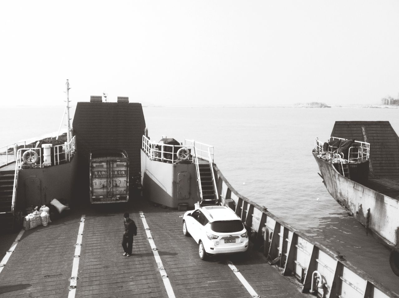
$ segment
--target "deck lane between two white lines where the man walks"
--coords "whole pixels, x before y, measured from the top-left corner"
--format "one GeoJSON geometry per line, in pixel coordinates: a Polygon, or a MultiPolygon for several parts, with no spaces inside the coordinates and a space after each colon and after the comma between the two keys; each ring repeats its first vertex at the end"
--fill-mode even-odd
{"type": "Polygon", "coordinates": [[[166,297],[138,210],[133,255],[122,256],[123,213],[86,214],[76,297],[166,297]]]}

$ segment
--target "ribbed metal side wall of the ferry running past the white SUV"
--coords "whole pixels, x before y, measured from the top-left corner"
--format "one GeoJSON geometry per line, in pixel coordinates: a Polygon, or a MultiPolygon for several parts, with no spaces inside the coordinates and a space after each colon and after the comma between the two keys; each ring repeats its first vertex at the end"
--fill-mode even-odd
{"type": "MultiPolygon", "coordinates": [[[[314,238],[294,229],[284,221],[240,195],[216,165],[213,165],[217,181],[217,193],[224,205],[228,205],[241,217],[254,248],[263,251],[270,263],[279,267],[285,276],[295,276],[302,284],[302,292],[308,293],[312,274],[320,272],[325,285],[317,287],[318,297],[398,297],[354,267],[343,256],[330,251],[314,238]]],[[[316,293],[315,293],[316,294],[316,293]]]]}

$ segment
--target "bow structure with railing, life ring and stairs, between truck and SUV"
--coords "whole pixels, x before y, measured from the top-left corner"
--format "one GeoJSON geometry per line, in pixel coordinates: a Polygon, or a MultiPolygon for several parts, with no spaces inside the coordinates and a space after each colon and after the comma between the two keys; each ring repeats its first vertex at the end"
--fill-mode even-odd
{"type": "Polygon", "coordinates": [[[152,142],[148,130],[142,137],[141,173],[144,196],[179,210],[217,205],[213,146],[173,138],[152,142]]]}

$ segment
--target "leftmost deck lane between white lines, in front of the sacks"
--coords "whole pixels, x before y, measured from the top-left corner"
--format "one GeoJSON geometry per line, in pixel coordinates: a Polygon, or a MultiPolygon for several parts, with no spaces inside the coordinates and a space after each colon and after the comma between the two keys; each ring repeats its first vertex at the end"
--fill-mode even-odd
{"type": "Polygon", "coordinates": [[[66,297],[79,215],[25,231],[0,274],[0,297],[66,297]]]}

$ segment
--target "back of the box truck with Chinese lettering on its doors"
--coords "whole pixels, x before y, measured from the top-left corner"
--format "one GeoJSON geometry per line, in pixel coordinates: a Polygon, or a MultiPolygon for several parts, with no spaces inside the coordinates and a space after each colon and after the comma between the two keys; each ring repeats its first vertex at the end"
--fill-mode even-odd
{"type": "Polygon", "coordinates": [[[117,196],[127,195],[127,162],[106,161],[92,163],[92,196],[100,201],[111,201],[117,196]]]}

